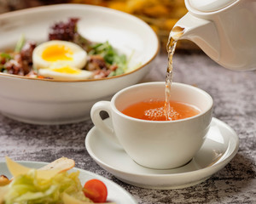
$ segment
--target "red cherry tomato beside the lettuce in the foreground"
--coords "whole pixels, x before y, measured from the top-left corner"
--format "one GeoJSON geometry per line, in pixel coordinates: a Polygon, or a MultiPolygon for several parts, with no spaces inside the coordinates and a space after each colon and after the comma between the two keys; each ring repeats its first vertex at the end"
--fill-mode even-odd
{"type": "Polygon", "coordinates": [[[106,202],[107,186],[98,179],[91,179],[84,184],[84,195],[94,202],[106,202]]]}

